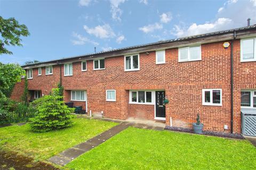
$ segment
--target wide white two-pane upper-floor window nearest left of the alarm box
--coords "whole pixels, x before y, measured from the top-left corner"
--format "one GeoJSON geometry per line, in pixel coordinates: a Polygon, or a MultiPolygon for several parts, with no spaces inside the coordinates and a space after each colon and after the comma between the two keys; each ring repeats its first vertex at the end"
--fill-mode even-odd
{"type": "Polygon", "coordinates": [[[201,60],[201,46],[179,48],[179,62],[201,60]]]}

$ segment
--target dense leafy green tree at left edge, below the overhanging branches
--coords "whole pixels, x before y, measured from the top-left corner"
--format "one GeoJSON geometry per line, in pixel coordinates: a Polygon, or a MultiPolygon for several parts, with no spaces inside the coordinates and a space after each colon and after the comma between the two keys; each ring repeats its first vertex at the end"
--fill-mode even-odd
{"type": "Polygon", "coordinates": [[[25,70],[19,64],[0,63],[0,97],[9,96],[15,83],[25,74],[25,70]]]}

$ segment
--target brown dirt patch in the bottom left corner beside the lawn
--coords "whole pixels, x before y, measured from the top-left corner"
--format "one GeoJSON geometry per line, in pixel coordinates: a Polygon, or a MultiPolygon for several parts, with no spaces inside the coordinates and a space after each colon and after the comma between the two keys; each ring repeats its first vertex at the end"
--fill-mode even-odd
{"type": "Polygon", "coordinates": [[[32,158],[17,154],[15,152],[5,152],[0,150],[0,169],[57,170],[59,168],[44,162],[34,162],[32,158]]]}

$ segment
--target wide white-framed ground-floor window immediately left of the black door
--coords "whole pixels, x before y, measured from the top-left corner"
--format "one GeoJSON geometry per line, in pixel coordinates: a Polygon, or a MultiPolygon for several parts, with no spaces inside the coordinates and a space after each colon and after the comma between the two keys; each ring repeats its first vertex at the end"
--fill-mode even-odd
{"type": "Polygon", "coordinates": [[[154,104],[154,91],[130,91],[131,104],[154,104]]]}

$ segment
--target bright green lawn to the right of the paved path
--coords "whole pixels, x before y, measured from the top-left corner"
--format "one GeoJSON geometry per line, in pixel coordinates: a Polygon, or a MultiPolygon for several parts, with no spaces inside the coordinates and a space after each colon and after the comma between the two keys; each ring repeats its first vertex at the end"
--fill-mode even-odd
{"type": "Polygon", "coordinates": [[[256,169],[256,149],[230,140],[128,128],[66,165],[69,169],[256,169]]]}

